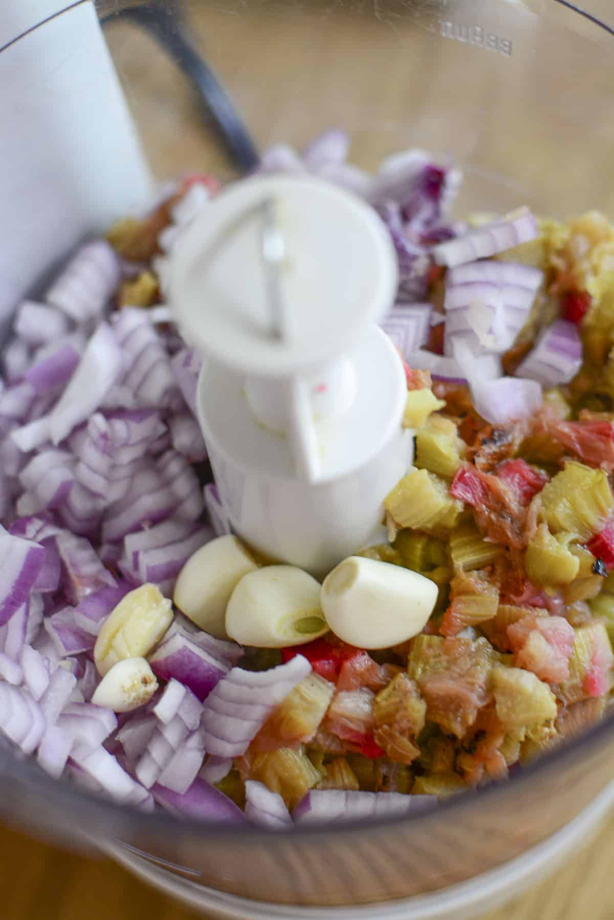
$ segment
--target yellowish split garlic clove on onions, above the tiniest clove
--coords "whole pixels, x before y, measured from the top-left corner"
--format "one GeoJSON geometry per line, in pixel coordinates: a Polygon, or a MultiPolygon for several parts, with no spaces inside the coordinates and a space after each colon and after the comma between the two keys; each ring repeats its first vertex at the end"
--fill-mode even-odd
{"type": "Polygon", "coordinates": [[[122,597],[96,639],[98,673],[104,676],[124,658],[145,658],[172,623],[172,606],[155,584],[143,584],[122,597]]]}

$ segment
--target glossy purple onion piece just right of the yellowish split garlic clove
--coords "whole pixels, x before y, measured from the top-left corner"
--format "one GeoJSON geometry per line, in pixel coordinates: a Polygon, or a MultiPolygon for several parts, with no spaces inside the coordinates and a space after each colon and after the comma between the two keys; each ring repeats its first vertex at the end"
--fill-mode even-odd
{"type": "Polygon", "coordinates": [[[214,658],[180,633],[159,645],[149,656],[149,663],[156,677],[165,681],[174,677],[201,701],[228,672],[225,661],[214,658]]]}

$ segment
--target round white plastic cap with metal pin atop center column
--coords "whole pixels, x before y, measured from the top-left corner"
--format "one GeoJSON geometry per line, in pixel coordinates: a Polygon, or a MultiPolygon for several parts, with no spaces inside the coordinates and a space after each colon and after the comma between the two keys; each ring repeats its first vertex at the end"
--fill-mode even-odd
{"type": "Polygon", "coordinates": [[[237,182],[181,237],[169,272],[188,341],[239,373],[278,378],[350,351],[396,288],[377,213],[315,178],[237,182]]]}

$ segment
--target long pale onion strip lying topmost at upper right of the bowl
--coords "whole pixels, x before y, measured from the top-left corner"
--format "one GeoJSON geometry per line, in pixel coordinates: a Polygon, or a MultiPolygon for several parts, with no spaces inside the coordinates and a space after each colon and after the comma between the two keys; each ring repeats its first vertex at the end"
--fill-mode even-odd
{"type": "Polygon", "coordinates": [[[538,234],[539,228],[533,214],[527,207],[518,208],[492,224],[484,224],[469,230],[464,236],[439,243],[433,248],[433,258],[437,265],[455,268],[474,259],[496,256],[505,249],[535,239],[538,234]]]}

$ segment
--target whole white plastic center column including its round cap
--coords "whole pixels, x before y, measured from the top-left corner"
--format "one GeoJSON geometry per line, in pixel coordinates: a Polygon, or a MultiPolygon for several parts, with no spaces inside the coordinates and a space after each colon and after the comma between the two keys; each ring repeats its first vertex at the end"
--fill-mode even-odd
{"type": "Polygon", "coordinates": [[[313,178],[238,182],[171,255],[171,305],[206,357],[199,416],[233,528],[317,575],[372,542],[411,462],[405,375],[377,328],[396,289],[377,213],[313,178]]]}

